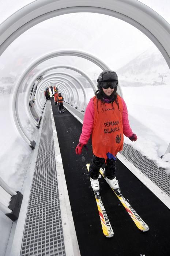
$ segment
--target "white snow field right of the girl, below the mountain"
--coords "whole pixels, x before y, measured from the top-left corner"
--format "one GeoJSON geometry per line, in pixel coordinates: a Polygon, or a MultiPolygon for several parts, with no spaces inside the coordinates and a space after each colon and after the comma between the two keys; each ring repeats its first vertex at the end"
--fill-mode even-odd
{"type": "Polygon", "coordinates": [[[122,87],[122,91],[129,124],[138,137],[136,142],[131,142],[124,136],[124,142],[170,173],[169,154],[160,158],[170,143],[170,87],[122,87]]]}

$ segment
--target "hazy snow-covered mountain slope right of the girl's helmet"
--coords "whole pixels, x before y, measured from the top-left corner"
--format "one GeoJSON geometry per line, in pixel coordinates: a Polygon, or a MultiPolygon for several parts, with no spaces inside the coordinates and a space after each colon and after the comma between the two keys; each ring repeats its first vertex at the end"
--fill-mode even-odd
{"type": "Polygon", "coordinates": [[[121,86],[170,84],[170,69],[157,48],[146,50],[117,73],[121,86]]]}

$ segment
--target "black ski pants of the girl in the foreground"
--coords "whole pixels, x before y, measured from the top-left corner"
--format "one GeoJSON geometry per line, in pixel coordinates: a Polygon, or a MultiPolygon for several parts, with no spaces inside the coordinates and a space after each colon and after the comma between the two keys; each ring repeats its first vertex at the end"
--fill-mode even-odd
{"type": "MultiPolygon", "coordinates": [[[[97,180],[99,177],[100,167],[105,163],[105,158],[97,157],[93,155],[90,162],[89,175],[90,178],[97,180]]],[[[108,179],[113,180],[116,174],[116,160],[106,159],[105,175],[108,179]]]]}

